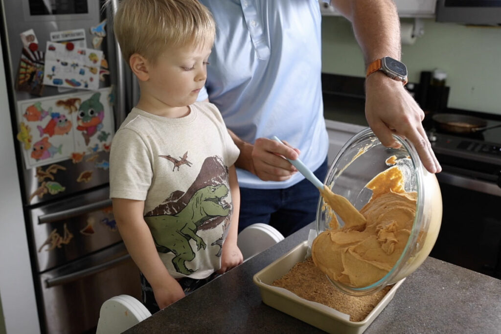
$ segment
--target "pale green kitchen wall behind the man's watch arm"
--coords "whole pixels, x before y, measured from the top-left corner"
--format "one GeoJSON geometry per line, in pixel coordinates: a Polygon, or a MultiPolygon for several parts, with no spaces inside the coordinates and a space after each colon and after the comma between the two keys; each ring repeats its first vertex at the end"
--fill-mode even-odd
{"type": "MultiPolygon", "coordinates": [[[[501,115],[501,28],[423,22],[424,35],[402,46],[409,81],[419,82],[421,71],[443,69],[449,108],[501,115]]],[[[362,53],[346,19],[323,17],[322,46],[323,72],[365,76],[362,53]]]]}

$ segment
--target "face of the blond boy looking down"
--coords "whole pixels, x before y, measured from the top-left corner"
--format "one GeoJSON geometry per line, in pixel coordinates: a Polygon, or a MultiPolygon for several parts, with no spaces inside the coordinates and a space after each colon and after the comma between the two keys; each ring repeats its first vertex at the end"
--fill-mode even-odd
{"type": "Polygon", "coordinates": [[[183,107],[194,103],[207,79],[210,51],[209,46],[167,48],[160,54],[156,64],[149,68],[149,79],[145,83],[147,94],[166,107],[183,107]]]}

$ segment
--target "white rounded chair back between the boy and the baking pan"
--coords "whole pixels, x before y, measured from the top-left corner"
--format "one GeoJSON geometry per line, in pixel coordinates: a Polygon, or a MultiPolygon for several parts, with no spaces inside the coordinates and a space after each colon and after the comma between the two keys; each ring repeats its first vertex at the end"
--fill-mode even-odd
{"type": "Polygon", "coordinates": [[[236,244],[245,261],[282,240],[284,236],[275,227],[256,223],[245,227],[238,233],[236,244]]]}

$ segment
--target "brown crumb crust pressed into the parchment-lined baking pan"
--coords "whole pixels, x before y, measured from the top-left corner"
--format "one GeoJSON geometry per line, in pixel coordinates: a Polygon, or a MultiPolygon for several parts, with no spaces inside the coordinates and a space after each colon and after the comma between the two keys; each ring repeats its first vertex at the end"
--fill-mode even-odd
{"type": "Polygon", "coordinates": [[[351,321],[365,319],[392,287],[386,286],[366,296],[351,296],[334,287],[325,274],[315,266],[311,257],[296,263],[287,274],[274,281],[273,285],[283,287],[303,299],[316,301],[349,314],[351,321]]]}

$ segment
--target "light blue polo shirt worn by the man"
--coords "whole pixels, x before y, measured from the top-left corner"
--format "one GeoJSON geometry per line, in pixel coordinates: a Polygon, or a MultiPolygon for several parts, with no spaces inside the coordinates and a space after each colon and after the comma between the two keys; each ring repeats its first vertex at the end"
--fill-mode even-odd
{"type": "MultiPolygon", "coordinates": [[[[277,136],[316,170],[326,159],[321,19],[317,0],[201,0],[214,16],[216,40],[206,92],[226,127],[246,142],[277,136]]],[[[279,189],[304,177],[262,181],[237,169],[241,187],[279,189]]]]}

